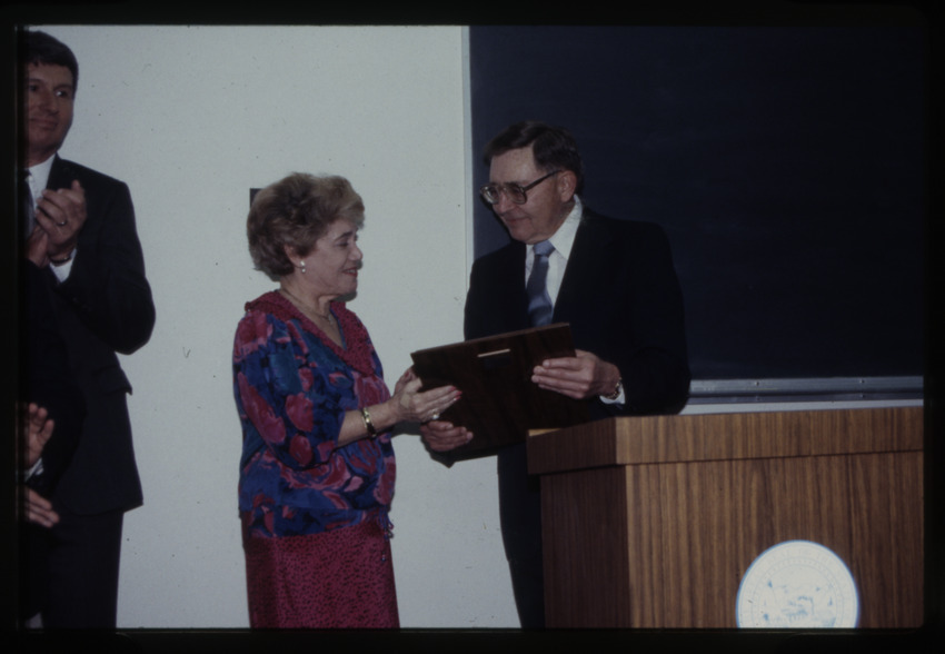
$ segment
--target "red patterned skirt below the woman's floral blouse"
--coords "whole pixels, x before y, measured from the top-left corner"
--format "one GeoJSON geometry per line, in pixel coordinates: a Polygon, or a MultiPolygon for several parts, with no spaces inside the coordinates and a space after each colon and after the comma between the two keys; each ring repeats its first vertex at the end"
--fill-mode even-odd
{"type": "Polygon", "coordinates": [[[307,536],[243,532],[253,628],[398,628],[390,541],[375,519],[307,536]]]}

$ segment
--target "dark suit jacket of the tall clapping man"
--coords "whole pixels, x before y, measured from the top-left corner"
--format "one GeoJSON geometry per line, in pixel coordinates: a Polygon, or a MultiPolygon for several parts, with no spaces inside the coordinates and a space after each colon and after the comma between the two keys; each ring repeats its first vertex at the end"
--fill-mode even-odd
{"type": "Polygon", "coordinates": [[[68,279],[60,284],[48,271],[47,280],[87,415],[54,501],[94,514],[142,502],[126,404],[131,385],[116,353],[148,341],[155,306],[128,187],[57,156],[47,187],[67,188],[74,179],[86,190],[88,217],[68,279]]]}

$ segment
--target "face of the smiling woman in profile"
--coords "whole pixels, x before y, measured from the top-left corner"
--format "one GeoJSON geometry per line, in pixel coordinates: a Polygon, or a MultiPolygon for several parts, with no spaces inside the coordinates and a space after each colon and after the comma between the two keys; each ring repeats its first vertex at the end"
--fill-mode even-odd
{"type": "Polygon", "coordinates": [[[358,289],[362,258],[357,226],[339,219],[329,225],[325,235],[315,241],[315,248],[301,257],[306,265],[302,278],[317,296],[348,295],[358,289]]]}

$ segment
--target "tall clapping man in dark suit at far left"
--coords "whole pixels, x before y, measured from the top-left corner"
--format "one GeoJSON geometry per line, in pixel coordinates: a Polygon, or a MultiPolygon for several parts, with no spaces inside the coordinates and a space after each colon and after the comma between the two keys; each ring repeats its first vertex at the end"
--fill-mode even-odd
{"type": "Polygon", "coordinates": [[[44,627],[113,628],[123,514],[142,502],[131,386],[116,353],[148,341],[155,307],[128,187],[57,155],[72,123],[76,58],[43,32],[22,37],[21,127],[34,209],[27,256],[47,285],[86,409],[52,490],[59,522],[46,531],[48,574],[34,589],[44,627]]]}

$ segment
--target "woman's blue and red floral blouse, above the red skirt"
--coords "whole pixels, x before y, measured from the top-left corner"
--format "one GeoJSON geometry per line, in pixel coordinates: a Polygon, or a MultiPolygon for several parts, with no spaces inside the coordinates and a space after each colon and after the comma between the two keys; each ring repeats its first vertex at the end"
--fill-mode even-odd
{"type": "Polygon", "coordinates": [[[344,347],[270,291],[246,305],[233,343],[242,425],[239,511],[249,537],[329,532],[377,519],[389,532],[390,432],[337,446],[345,413],[390,397],[367,329],[334,303],[344,347]]]}

